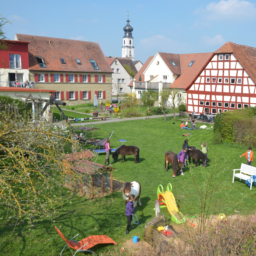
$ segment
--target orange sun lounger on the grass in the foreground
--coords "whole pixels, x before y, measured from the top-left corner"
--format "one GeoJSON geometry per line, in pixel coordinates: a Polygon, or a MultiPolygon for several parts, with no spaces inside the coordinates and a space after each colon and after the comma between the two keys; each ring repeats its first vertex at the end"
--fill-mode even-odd
{"type": "MultiPolygon", "coordinates": [[[[92,250],[90,250],[90,248],[92,248],[93,246],[95,246],[96,244],[99,244],[99,243],[114,243],[115,245],[117,245],[117,243],[115,243],[114,240],[112,240],[110,237],[105,236],[105,235],[87,236],[86,238],[84,238],[80,241],[74,241],[73,239],[79,235],[79,234],[77,234],[72,239],[66,240],[66,238],[57,229],[57,227],[55,227],[55,228],[58,231],[61,238],[63,240],[65,240],[65,242],[66,242],[66,245],[64,246],[62,252],[64,251],[64,249],[66,248],[67,245],[69,246],[69,249],[72,248],[72,249],[76,250],[75,254],[77,252],[91,252],[92,254],[95,254],[92,250]]],[[[71,249],[70,249],[70,251],[71,251],[71,249]]],[[[60,253],[60,256],[61,256],[62,252],[60,253]]],[[[74,256],[75,256],[75,254],[74,254],[74,256]]]]}

